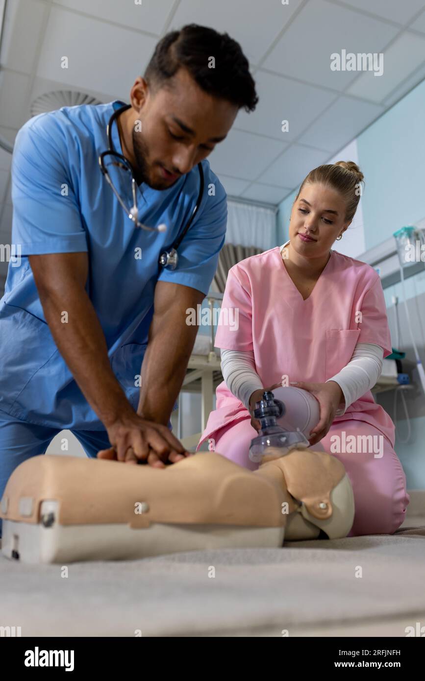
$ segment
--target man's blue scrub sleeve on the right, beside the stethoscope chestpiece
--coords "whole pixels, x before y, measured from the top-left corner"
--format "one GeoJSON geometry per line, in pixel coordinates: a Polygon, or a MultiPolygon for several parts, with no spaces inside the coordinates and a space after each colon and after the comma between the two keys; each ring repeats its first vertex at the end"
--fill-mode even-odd
{"type": "MultiPolygon", "coordinates": [[[[211,174],[213,175],[213,174],[211,174]]],[[[185,238],[178,247],[176,270],[162,268],[158,281],[182,284],[207,294],[217,270],[227,225],[227,195],[219,181],[216,194],[208,194],[208,181],[200,206],[185,238]]],[[[182,227],[184,229],[184,226],[182,227]]]]}

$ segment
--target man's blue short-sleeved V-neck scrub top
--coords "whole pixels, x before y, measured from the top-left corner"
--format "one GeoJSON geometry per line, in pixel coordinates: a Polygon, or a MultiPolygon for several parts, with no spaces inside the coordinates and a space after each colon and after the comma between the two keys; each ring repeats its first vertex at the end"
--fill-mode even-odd
{"type": "MultiPolygon", "coordinates": [[[[33,279],[28,255],[87,251],[89,294],[104,331],[112,370],[134,409],[157,281],[208,292],[225,240],[226,193],[206,159],[204,194],[178,247],[178,267],[165,270],[159,255],[191,217],[200,191],[195,166],[169,189],[142,183],[138,219],[166,232],[135,228],[99,169],[108,148],[106,126],[121,101],[63,107],[31,118],[16,136],[12,158],[12,244],[20,266],[9,263],[0,300],[0,410],[58,428],[104,430],[57,349],[33,279]],[[142,257],[136,257],[140,253],[142,257]],[[15,251],[16,252],[16,251],[15,251]]],[[[116,123],[115,150],[123,153],[116,123]]],[[[123,200],[132,205],[131,188],[123,200]]],[[[65,306],[66,307],[66,306],[65,306]]],[[[185,323],[185,320],[182,320],[185,323]]],[[[170,328],[170,334],[173,329],[170,328]]]]}

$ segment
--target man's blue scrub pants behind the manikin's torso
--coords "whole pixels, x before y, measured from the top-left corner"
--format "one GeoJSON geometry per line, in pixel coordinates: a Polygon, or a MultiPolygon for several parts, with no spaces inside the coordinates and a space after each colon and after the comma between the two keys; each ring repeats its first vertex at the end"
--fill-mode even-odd
{"type": "MultiPolygon", "coordinates": [[[[20,421],[0,411],[0,498],[16,466],[31,456],[45,454],[50,441],[62,430],[63,428],[48,428],[48,426],[20,421]]],[[[86,455],[92,458],[96,457],[99,449],[110,447],[106,430],[72,430],[71,432],[80,441],[86,455]]]]}

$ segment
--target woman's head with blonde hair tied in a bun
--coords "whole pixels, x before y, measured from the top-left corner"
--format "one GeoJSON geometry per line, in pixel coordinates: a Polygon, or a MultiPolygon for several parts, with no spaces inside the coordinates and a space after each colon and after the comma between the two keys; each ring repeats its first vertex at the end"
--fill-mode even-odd
{"type": "Polygon", "coordinates": [[[306,258],[323,258],[356,213],[363,174],[353,161],[319,165],[304,179],[292,206],[289,239],[306,258]],[[302,236],[311,237],[304,241],[302,236]]]}

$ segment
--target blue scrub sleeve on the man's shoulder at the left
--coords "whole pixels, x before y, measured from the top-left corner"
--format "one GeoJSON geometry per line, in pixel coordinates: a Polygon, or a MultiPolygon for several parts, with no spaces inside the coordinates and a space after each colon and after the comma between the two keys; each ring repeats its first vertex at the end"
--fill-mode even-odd
{"type": "Polygon", "coordinates": [[[16,136],[12,240],[22,255],[88,250],[66,158],[63,132],[48,114],[28,121],[16,136]]]}

